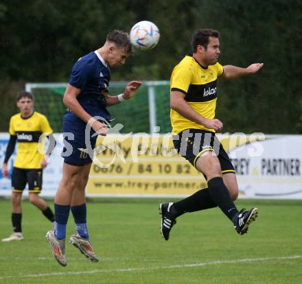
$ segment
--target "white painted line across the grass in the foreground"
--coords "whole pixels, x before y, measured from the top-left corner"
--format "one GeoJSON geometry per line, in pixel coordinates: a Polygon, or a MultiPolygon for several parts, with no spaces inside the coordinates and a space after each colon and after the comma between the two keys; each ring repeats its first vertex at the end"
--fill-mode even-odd
{"type": "Polygon", "coordinates": [[[88,271],[67,271],[67,272],[52,272],[44,274],[27,274],[27,275],[12,275],[12,276],[0,276],[1,279],[12,279],[12,278],[36,278],[45,276],[57,276],[57,275],[80,275],[80,274],[95,274],[95,273],[108,273],[108,272],[133,272],[142,270],[165,270],[175,268],[196,268],[205,265],[215,264],[229,264],[229,263],[244,263],[244,262],[255,262],[255,261],[269,261],[269,260],[284,260],[284,259],[301,259],[302,255],[291,255],[288,257],[259,257],[255,259],[235,259],[225,261],[209,261],[203,263],[189,263],[189,264],[178,264],[170,266],[154,266],[148,268],[120,268],[120,269],[104,269],[104,270],[88,270],[88,271]]]}

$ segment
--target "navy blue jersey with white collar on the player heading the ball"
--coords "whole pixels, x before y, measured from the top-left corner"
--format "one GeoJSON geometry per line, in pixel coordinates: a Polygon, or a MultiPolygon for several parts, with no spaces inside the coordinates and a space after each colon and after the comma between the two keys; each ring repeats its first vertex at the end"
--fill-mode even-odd
{"type": "Polygon", "coordinates": [[[110,79],[108,64],[97,51],[93,51],[75,62],[69,80],[71,86],[81,90],[77,99],[82,108],[92,117],[104,117],[107,121],[111,119],[106,108],[110,79]]]}

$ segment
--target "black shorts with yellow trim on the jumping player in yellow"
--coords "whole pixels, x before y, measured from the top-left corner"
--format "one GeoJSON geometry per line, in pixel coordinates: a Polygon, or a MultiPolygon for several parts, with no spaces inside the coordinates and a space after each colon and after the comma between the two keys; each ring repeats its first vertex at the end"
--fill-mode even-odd
{"type": "Polygon", "coordinates": [[[186,129],[173,136],[178,154],[196,167],[196,161],[205,152],[215,152],[220,162],[222,174],[235,173],[231,160],[214,132],[200,129],[186,129]]]}

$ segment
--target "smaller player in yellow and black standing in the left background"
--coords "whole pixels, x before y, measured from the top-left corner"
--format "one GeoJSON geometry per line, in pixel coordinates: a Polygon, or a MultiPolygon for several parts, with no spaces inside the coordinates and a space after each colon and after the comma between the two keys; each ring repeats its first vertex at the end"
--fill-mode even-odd
{"type": "Polygon", "coordinates": [[[21,91],[16,97],[16,105],[20,113],[10,119],[10,141],[5,153],[2,168],[3,177],[8,177],[8,160],[14,152],[16,142],[18,147],[12,171],[12,227],[14,233],[2,241],[19,241],[23,239],[21,218],[21,198],[26,184],[29,189],[29,200],[51,222],[54,222],[54,213],[47,202],[38,196],[42,190],[42,171],[47,166],[46,157],[38,151],[40,135],[49,137],[49,147],[46,154],[50,154],[55,140],[52,129],[44,115],[34,112],[33,97],[31,93],[21,91]]]}

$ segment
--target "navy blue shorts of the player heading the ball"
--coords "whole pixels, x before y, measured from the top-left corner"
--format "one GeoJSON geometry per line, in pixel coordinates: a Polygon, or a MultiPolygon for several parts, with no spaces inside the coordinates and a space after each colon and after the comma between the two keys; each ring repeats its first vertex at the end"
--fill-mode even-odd
{"type": "Polygon", "coordinates": [[[97,135],[87,124],[71,112],[66,113],[63,119],[64,148],[62,158],[69,165],[87,165],[93,160],[93,149],[97,141],[97,135]]]}

